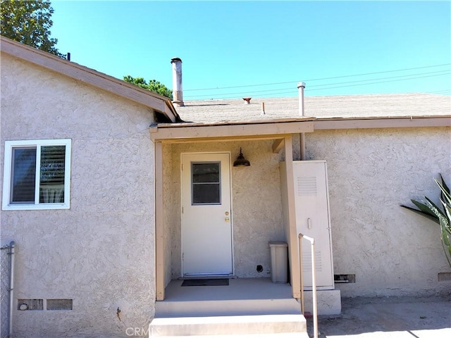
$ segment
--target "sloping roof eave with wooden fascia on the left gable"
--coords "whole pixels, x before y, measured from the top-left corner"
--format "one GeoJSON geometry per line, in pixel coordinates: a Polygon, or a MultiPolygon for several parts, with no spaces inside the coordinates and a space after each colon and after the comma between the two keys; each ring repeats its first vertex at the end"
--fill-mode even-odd
{"type": "Polygon", "coordinates": [[[39,65],[48,70],[66,75],[74,80],[84,82],[99,89],[106,90],[125,99],[142,104],[153,111],[163,114],[168,121],[180,122],[180,117],[170,99],[130,84],[123,80],[116,79],[104,73],[97,72],[78,63],[67,61],[63,58],[40,51],[33,47],[19,42],[1,37],[1,53],[6,53],[21,60],[39,65]]]}

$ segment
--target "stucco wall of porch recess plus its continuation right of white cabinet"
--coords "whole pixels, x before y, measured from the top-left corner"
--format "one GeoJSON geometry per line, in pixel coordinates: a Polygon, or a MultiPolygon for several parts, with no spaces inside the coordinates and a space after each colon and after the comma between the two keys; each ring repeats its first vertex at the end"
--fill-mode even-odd
{"type": "MultiPolygon", "coordinates": [[[[294,136],[293,157],[299,159],[294,136]]],[[[450,128],[316,131],[307,136],[307,159],[328,163],[335,274],[356,282],[335,284],[342,296],[448,294],[450,272],[438,225],[400,204],[426,195],[438,201],[433,177],[451,182],[450,128]]],[[[232,167],[235,275],[268,277],[268,240],[284,237],[278,162],[271,141],[173,144],[171,196],[172,276],[180,277],[180,153],[230,151],[243,146],[252,163],[232,167]],[[257,273],[256,265],[264,266],[257,273]]]]}

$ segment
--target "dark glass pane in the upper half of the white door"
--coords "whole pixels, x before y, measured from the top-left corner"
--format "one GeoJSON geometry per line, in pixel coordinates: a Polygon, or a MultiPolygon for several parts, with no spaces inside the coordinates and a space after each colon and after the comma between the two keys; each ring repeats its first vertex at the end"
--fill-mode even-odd
{"type": "Polygon", "coordinates": [[[220,169],[218,162],[191,163],[192,205],[221,204],[220,169]]]}

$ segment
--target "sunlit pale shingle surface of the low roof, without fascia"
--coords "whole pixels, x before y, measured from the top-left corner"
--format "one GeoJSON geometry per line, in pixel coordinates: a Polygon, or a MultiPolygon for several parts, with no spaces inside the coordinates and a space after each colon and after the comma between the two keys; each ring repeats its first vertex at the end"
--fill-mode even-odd
{"type": "MultiPolygon", "coordinates": [[[[301,118],[299,98],[254,98],[185,101],[177,108],[180,117],[194,123],[240,123],[243,121],[301,118]],[[262,103],[265,114],[262,115],[262,103]]],[[[306,96],[304,116],[332,118],[400,118],[451,115],[451,96],[435,94],[372,94],[347,96],[306,96]]]]}

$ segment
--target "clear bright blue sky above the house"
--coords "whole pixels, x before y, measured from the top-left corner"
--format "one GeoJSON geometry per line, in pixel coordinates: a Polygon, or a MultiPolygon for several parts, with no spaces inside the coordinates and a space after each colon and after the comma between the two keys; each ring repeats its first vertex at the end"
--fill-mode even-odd
{"type": "Polygon", "coordinates": [[[183,97],[451,94],[450,1],[51,1],[71,61],[183,97]],[[359,75],[359,76],[350,76],[359,75]]]}

